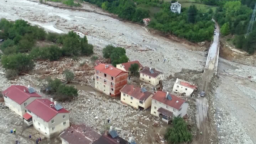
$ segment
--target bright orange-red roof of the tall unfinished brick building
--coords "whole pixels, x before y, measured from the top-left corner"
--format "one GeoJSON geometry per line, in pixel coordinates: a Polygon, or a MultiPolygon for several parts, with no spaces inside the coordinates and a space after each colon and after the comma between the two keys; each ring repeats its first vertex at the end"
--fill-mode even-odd
{"type": "Polygon", "coordinates": [[[127,72],[124,72],[114,66],[108,65],[108,68],[105,68],[107,64],[99,63],[97,66],[94,67],[95,70],[98,70],[100,72],[103,72],[104,74],[108,74],[113,77],[121,76],[122,74],[127,74],[127,72]]]}

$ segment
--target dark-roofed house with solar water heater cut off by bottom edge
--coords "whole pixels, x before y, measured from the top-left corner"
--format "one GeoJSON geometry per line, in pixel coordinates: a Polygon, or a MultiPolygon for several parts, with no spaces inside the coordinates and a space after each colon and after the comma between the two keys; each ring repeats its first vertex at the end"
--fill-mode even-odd
{"type": "Polygon", "coordinates": [[[136,144],[133,138],[129,138],[128,142],[123,138],[119,137],[117,131],[113,130],[113,127],[110,126],[109,131],[105,131],[104,134],[98,138],[93,144],[136,144]]]}

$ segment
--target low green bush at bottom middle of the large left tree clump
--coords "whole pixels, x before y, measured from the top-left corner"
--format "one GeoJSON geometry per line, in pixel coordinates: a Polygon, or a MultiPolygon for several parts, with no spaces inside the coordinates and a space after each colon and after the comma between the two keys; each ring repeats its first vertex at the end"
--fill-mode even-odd
{"type": "Polygon", "coordinates": [[[33,59],[48,59],[50,61],[56,61],[62,56],[62,52],[58,46],[50,45],[42,48],[33,48],[30,52],[30,56],[33,59]]]}

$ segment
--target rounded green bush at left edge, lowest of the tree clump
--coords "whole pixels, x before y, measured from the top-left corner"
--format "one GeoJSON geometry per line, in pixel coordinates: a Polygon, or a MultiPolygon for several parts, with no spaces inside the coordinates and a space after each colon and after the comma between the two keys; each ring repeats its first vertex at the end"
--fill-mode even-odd
{"type": "Polygon", "coordinates": [[[3,55],[1,62],[7,70],[17,70],[17,72],[28,72],[34,68],[34,63],[27,54],[3,55]]]}

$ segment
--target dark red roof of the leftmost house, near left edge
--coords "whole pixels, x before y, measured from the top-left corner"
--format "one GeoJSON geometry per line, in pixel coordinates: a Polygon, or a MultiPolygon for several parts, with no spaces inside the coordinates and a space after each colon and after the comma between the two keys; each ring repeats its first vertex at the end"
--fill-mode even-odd
{"type": "Polygon", "coordinates": [[[4,90],[2,94],[14,102],[17,102],[19,105],[28,100],[30,97],[42,98],[42,96],[35,92],[30,94],[27,88],[21,85],[11,85],[11,87],[8,87],[6,90],[4,90]],[[26,92],[24,92],[24,89],[26,92]]]}

